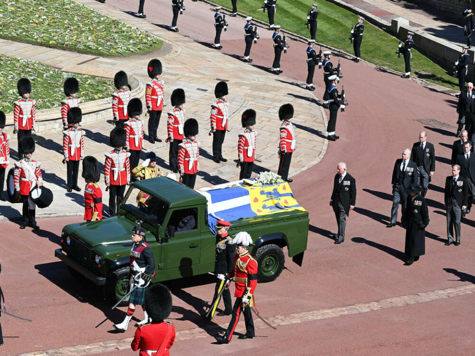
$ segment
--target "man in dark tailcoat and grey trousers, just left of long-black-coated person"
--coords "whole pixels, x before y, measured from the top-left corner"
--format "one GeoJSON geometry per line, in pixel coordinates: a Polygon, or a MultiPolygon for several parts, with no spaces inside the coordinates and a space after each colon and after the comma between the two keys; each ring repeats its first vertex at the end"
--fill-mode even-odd
{"type": "Polygon", "coordinates": [[[402,151],[402,158],[397,159],[392,171],[391,185],[392,185],[392,209],[391,222],[387,227],[396,226],[397,209],[401,203],[401,226],[406,225],[406,201],[407,189],[411,184],[416,184],[419,181],[419,170],[414,161],[411,161],[411,150],[409,148],[402,151]]]}

